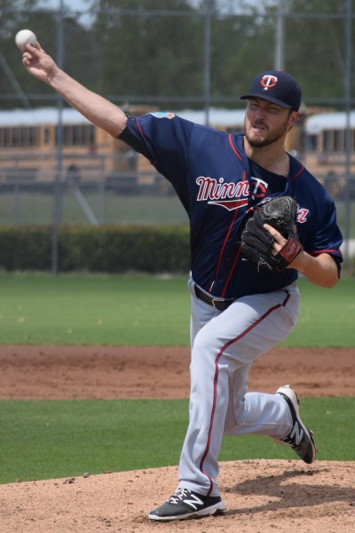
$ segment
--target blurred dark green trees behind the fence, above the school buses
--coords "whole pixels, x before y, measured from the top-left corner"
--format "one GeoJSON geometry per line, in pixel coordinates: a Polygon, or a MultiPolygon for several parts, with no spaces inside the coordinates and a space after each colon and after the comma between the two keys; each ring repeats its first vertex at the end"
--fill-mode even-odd
{"type": "MultiPolygon", "coordinates": [[[[43,100],[52,103],[56,96],[21,65],[13,39],[24,27],[33,28],[43,48],[63,59],[68,74],[120,104],[201,107],[210,82],[212,105],[235,107],[256,72],[274,67],[278,4],[269,0],[245,0],[237,6],[232,0],[166,0],[163,5],[156,0],[93,0],[90,25],[74,12],[64,15],[61,51],[56,12],[36,12],[36,0],[3,4],[0,49],[33,106],[43,105],[43,100]]],[[[346,4],[282,3],[285,68],[296,76],[304,99],[311,103],[336,105],[343,99],[346,4]]],[[[14,93],[9,76],[1,76],[2,107],[19,106],[14,93]]]]}

